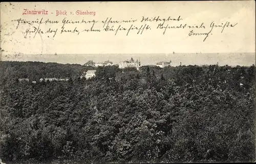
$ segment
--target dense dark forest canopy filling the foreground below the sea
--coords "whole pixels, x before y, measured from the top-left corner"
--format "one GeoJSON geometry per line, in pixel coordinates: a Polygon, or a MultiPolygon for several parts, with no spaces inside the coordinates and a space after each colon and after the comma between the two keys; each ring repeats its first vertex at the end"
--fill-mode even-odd
{"type": "Polygon", "coordinates": [[[254,79],[255,66],[143,66],[138,71],[0,62],[0,156],[254,161],[254,79]],[[92,69],[96,77],[80,78],[92,69]],[[46,77],[69,80],[38,82],[46,77]]]}

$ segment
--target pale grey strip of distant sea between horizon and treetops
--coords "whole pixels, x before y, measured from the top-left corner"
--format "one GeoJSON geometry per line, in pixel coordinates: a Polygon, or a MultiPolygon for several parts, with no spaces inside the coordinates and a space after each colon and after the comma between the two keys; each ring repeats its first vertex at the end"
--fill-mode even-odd
{"type": "Polygon", "coordinates": [[[241,53],[138,53],[138,54],[2,54],[2,61],[33,61],[53,62],[61,64],[84,64],[89,60],[94,62],[112,61],[118,64],[124,60],[139,60],[141,65],[155,65],[161,61],[172,61],[173,66],[182,65],[255,65],[255,52],[241,53]]]}

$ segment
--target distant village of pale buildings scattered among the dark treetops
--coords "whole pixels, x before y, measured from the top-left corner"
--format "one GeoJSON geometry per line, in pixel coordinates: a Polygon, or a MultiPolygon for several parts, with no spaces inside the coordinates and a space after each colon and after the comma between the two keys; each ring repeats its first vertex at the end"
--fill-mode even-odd
{"type": "MultiPolygon", "coordinates": [[[[113,64],[113,62],[111,61],[105,61],[102,63],[95,63],[93,61],[87,61],[84,66],[91,66],[91,67],[103,67],[103,66],[113,66],[116,65],[118,66],[120,69],[124,69],[124,68],[136,68],[137,70],[139,70],[141,63],[140,61],[138,61],[138,59],[135,61],[133,58],[131,58],[131,60],[125,60],[120,62],[119,64],[113,64]]],[[[156,63],[156,65],[148,65],[148,66],[158,66],[160,68],[164,68],[164,67],[168,67],[168,66],[172,66],[172,61],[162,61],[162,62],[158,62],[156,63]]],[[[92,78],[96,76],[96,70],[88,70],[88,71],[84,71],[81,75],[80,78],[92,78]]],[[[40,82],[41,81],[68,81],[69,78],[40,78],[40,82]]],[[[18,81],[27,81],[29,82],[28,78],[19,78],[18,81]]],[[[36,81],[32,81],[32,83],[36,83],[36,81]]]]}

